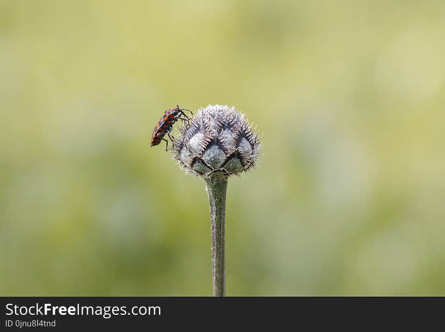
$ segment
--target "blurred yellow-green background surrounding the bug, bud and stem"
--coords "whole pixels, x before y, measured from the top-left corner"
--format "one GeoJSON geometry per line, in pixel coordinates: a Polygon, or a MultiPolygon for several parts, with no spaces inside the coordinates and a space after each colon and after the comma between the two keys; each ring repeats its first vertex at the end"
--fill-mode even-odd
{"type": "Polygon", "coordinates": [[[443,1],[0,0],[0,295],[209,296],[162,112],[235,105],[227,295],[445,295],[443,1]]]}

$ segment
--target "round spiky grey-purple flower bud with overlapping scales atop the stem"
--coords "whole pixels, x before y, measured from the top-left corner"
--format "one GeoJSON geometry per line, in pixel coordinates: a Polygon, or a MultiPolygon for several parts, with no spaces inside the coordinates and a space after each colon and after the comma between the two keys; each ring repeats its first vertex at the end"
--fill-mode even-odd
{"type": "Polygon", "coordinates": [[[204,177],[248,171],[258,157],[258,133],[234,107],[209,105],[180,127],[174,158],[181,168],[204,177]]]}

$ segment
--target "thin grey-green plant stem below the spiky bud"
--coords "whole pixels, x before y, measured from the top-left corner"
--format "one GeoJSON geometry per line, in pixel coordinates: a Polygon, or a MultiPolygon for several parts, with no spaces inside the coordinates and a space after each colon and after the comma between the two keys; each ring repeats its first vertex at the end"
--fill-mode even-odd
{"type": "Polygon", "coordinates": [[[213,296],[226,296],[225,227],[227,176],[207,177],[206,191],[210,204],[212,229],[213,296]]]}

